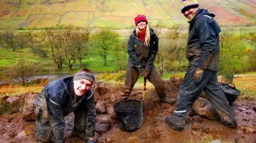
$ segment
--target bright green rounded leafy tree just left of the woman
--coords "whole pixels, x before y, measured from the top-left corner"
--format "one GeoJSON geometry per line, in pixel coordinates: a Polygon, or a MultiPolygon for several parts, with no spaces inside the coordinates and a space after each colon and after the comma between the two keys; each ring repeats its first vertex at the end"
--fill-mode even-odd
{"type": "Polygon", "coordinates": [[[96,34],[90,37],[90,46],[92,52],[99,54],[103,60],[103,66],[107,65],[107,57],[110,51],[115,49],[119,44],[119,34],[109,28],[101,28],[96,34]]]}

